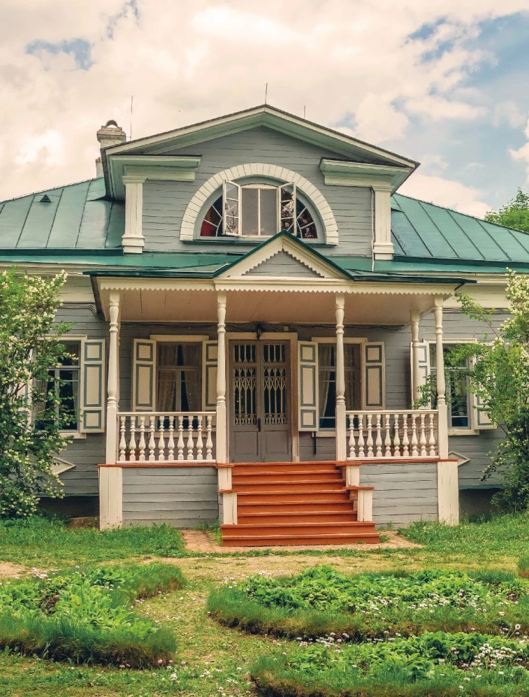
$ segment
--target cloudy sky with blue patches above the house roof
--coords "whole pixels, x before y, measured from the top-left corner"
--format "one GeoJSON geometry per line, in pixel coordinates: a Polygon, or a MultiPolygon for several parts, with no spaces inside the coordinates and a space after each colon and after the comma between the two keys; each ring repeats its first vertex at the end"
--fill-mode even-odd
{"type": "Polygon", "coordinates": [[[482,216],[529,190],[529,0],[2,0],[0,200],[139,138],[268,102],[421,162],[482,216]]]}

